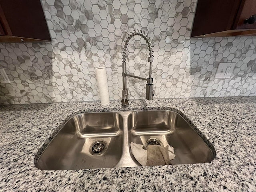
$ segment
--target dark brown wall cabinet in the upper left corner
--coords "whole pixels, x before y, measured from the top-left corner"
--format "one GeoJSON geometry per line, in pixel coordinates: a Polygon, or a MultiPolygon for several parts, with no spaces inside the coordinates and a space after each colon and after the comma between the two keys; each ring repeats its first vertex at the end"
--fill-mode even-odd
{"type": "Polygon", "coordinates": [[[50,40],[40,0],[0,0],[0,42],[50,40]]]}

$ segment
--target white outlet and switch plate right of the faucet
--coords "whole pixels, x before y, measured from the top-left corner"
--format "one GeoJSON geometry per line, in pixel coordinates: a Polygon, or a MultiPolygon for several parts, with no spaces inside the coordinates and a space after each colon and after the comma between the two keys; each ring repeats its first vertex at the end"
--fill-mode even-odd
{"type": "Polygon", "coordinates": [[[236,63],[220,63],[218,65],[215,78],[216,79],[229,79],[233,74],[236,63]]]}

